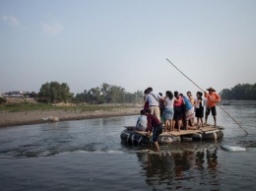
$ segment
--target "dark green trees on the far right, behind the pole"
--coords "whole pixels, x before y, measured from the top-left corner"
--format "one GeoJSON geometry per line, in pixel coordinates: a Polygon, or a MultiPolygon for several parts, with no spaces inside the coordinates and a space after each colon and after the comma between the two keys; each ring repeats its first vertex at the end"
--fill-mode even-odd
{"type": "Polygon", "coordinates": [[[224,89],[221,92],[222,99],[236,100],[256,100],[256,84],[238,84],[229,89],[224,89]]]}

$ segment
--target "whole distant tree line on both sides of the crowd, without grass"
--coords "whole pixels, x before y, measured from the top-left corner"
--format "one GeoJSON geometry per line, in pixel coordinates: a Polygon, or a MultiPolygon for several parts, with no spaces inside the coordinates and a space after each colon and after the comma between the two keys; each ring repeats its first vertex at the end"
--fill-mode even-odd
{"type": "MultiPolygon", "coordinates": [[[[256,84],[238,84],[221,93],[223,99],[231,100],[256,100],[256,84]]],[[[74,103],[142,103],[143,92],[128,93],[124,88],[103,83],[100,87],[85,90],[74,96],[66,83],[50,82],[41,86],[38,93],[38,100],[46,103],[74,102],[74,103]]],[[[5,103],[4,97],[0,98],[0,104],[5,103]]]]}

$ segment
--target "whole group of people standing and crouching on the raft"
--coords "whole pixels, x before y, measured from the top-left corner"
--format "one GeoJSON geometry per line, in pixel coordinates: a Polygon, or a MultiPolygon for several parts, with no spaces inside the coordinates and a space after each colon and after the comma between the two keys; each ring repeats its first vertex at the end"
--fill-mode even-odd
{"type": "Polygon", "coordinates": [[[144,109],[136,123],[136,130],[147,131],[150,136],[153,132],[152,143],[159,150],[158,137],[162,131],[196,130],[207,125],[210,112],[214,117],[214,127],[217,127],[216,103],[221,101],[221,97],[213,88],[207,92],[197,92],[194,98],[191,92],[186,96],[175,91],[166,91],[165,96],[156,94],[153,88],[148,88],[144,92],[144,109]],[[203,95],[207,100],[204,108],[203,95]],[[205,115],[205,122],[203,118],[205,115]],[[196,117],[196,122],[195,122],[196,117]],[[164,126],[162,127],[162,124],[164,126]]]}

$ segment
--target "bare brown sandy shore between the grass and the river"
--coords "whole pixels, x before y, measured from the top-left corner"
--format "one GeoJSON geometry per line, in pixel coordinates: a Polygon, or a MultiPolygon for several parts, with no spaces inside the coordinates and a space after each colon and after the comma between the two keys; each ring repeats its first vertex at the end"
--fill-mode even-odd
{"type": "Polygon", "coordinates": [[[92,118],[104,118],[113,116],[139,115],[141,107],[122,108],[111,111],[71,111],[71,110],[48,110],[27,112],[0,112],[0,127],[48,123],[49,118],[57,117],[59,121],[81,120],[92,118]]]}

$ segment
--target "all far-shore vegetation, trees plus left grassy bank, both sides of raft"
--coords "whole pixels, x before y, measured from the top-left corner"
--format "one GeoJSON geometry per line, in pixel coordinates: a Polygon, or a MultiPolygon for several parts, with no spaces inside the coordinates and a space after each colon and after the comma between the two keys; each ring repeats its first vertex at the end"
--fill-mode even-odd
{"type": "MultiPolygon", "coordinates": [[[[230,90],[224,89],[220,95],[223,100],[256,100],[256,84],[238,84],[230,90]]],[[[143,91],[128,93],[122,87],[106,83],[76,96],[70,93],[66,83],[51,82],[43,84],[39,93],[33,94],[33,97],[0,97],[0,111],[9,112],[52,109],[118,110],[138,104],[143,104],[143,91]]]]}

